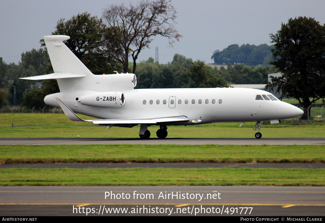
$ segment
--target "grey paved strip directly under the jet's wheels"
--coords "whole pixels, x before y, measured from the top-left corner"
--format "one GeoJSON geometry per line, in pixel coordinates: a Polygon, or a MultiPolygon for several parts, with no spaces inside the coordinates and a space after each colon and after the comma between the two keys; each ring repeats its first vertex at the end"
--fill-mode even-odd
{"type": "Polygon", "coordinates": [[[174,144],[174,145],[325,145],[325,138],[0,138],[0,145],[90,145],[90,144],[174,144]]]}

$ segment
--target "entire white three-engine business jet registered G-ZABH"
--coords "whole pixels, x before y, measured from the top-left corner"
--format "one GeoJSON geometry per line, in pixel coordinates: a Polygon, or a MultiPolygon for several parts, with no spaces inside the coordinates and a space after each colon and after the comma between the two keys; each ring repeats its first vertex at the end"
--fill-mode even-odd
{"type": "Polygon", "coordinates": [[[157,136],[167,136],[168,125],[217,122],[256,122],[261,138],[265,121],[294,118],[304,112],[278,100],[267,91],[249,88],[134,89],[135,74],[94,75],[63,41],[69,36],[44,36],[54,74],[25,77],[27,80],[57,79],[59,93],[47,95],[45,103],[61,108],[72,121],[119,127],[140,124],[139,136],[148,139],[151,125],[157,136]],[[100,118],[83,120],[76,113],[100,118]]]}

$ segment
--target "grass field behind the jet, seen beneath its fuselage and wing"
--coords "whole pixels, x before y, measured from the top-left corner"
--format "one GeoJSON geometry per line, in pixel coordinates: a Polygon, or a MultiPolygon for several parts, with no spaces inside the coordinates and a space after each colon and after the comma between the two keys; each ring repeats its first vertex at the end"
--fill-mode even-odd
{"type": "MultiPolygon", "coordinates": [[[[82,118],[86,118],[82,116],[82,118]]],[[[168,138],[254,138],[255,123],[213,123],[195,126],[168,126],[168,138]]],[[[294,121],[269,124],[261,129],[263,138],[317,138],[324,137],[325,123],[302,123],[294,121]]],[[[0,114],[0,137],[80,137],[88,138],[138,138],[139,126],[133,128],[103,126],[86,122],[72,122],[64,114],[0,114]],[[14,123],[14,128],[12,128],[14,123]]],[[[158,126],[149,127],[152,138],[157,138],[158,126]]]]}

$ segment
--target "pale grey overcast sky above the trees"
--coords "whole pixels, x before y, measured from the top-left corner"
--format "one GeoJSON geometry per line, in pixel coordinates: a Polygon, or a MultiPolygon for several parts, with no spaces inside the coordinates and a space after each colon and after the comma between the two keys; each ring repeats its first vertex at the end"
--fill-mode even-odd
{"type": "MultiPolygon", "coordinates": [[[[126,4],[129,1],[124,1],[126,4]]],[[[132,4],[139,2],[131,1],[132,4]]],[[[51,35],[60,18],[87,11],[101,18],[102,10],[117,0],[0,0],[0,57],[7,63],[18,63],[22,52],[39,49],[43,36],[51,35]]],[[[175,53],[195,60],[213,63],[214,50],[223,50],[230,44],[266,43],[270,33],[276,33],[281,22],[298,16],[313,17],[325,23],[323,0],[258,0],[258,1],[194,1],[172,0],[176,8],[175,29],[183,38],[168,46],[168,39],[158,37],[139,54],[138,61],[155,58],[159,48],[159,62],[173,60],[175,53]]]]}

